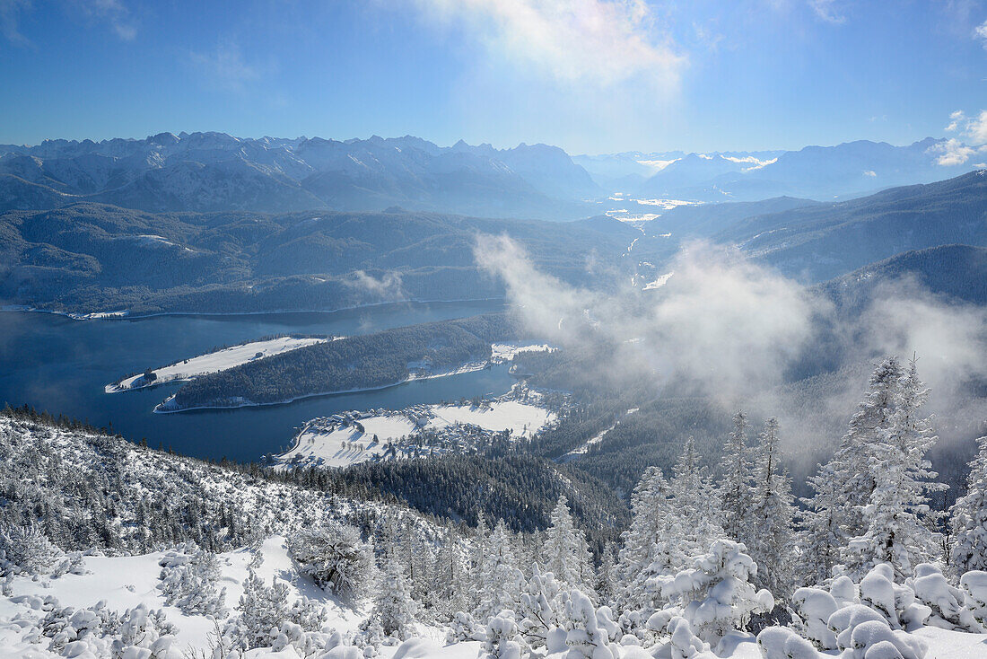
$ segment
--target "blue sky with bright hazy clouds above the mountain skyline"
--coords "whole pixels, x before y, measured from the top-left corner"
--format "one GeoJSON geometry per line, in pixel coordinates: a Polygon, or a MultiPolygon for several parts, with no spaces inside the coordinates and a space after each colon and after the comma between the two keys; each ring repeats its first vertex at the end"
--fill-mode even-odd
{"type": "Polygon", "coordinates": [[[949,136],[957,111],[970,141],[984,109],[974,0],[0,0],[0,142],[753,150],[949,136]]]}

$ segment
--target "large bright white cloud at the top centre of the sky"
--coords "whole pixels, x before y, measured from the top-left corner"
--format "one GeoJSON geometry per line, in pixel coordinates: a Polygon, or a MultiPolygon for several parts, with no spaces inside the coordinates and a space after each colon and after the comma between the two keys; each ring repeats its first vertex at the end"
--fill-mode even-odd
{"type": "Polygon", "coordinates": [[[658,34],[645,0],[416,0],[426,17],[459,25],[495,56],[566,83],[646,78],[674,85],[684,65],[658,34]]]}

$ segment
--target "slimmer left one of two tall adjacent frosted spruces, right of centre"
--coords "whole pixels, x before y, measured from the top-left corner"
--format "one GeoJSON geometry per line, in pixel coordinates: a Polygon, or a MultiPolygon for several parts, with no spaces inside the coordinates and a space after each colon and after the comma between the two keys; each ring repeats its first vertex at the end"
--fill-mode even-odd
{"type": "Polygon", "coordinates": [[[753,503],[752,470],[747,447],[747,416],[733,415],[733,431],[723,444],[720,500],[723,533],[737,542],[750,539],[753,503]]]}

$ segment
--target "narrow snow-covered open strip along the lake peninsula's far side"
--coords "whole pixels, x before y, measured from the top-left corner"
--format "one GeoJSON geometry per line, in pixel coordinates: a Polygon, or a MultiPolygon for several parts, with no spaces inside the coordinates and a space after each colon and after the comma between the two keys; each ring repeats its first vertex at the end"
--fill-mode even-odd
{"type": "Polygon", "coordinates": [[[147,381],[143,373],[124,377],[118,382],[107,384],[106,392],[118,393],[120,391],[139,389],[164,382],[187,380],[210,372],[232,369],[247,362],[286,353],[289,350],[311,346],[315,343],[324,343],[328,340],[320,337],[293,338],[284,336],[276,339],[267,339],[266,341],[252,341],[239,346],[217,350],[213,353],[199,355],[198,357],[193,357],[189,360],[172,364],[171,366],[155,369],[153,372],[157,377],[151,381],[147,381]]]}

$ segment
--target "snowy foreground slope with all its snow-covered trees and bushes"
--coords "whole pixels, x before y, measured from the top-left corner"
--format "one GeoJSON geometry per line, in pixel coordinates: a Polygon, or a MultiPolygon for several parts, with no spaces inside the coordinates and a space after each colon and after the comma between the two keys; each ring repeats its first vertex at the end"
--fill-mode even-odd
{"type": "Polygon", "coordinates": [[[470,529],[346,471],[208,464],[5,411],[0,656],[985,657],[987,438],[937,545],[914,362],[885,360],[870,386],[798,535],[778,423],[752,448],[738,413],[720,481],[690,438],[670,478],[645,469],[598,561],[565,495],[543,531],[470,529]]]}

